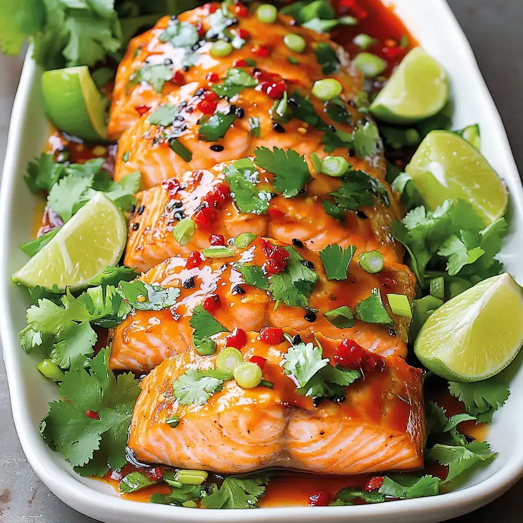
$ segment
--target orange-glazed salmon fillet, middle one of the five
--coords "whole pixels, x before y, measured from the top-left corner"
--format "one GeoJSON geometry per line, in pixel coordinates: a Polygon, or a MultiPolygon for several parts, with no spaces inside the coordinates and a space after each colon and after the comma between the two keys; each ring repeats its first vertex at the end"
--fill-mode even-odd
{"type": "MultiPolygon", "coordinates": [[[[231,200],[226,173],[234,167],[234,162],[188,171],[140,192],[136,212],[130,216],[124,264],[146,271],[170,256],[209,247],[211,233],[228,239],[245,232],[289,244],[298,238],[314,251],[321,251],[332,243],[342,247],[356,245],[358,254],[376,250],[386,261],[401,261],[402,248],[390,233],[390,224],[400,219],[400,211],[389,185],[382,182],[389,205],[376,198],[374,207],[361,207],[358,213],[347,211],[344,221],[340,221],[327,214],[322,203],[331,198],[329,192],[341,186],[339,178],[315,173],[311,163],[308,164],[312,181],[304,194],[283,198],[273,193],[268,212],[264,214],[242,213],[231,200]],[[220,201],[215,201],[217,196],[221,197],[220,201]],[[198,213],[213,201],[213,220],[206,226],[198,221],[198,213]],[[197,229],[188,243],[180,245],[173,229],[185,217],[196,221],[197,229]]],[[[253,167],[258,170],[261,184],[271,184],[273,174],[255,164],[253,167]]]]}

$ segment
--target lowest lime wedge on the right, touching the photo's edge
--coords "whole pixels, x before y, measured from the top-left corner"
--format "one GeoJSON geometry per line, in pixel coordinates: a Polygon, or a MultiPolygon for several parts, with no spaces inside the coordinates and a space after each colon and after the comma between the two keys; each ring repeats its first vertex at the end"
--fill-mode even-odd
{"type": "Polygon", "coordinates": [[[502,371],[523,344],[523,292],[504,272],[477,283],[429,316],[414,351],[441,378],[479,381],[502,371]]]}

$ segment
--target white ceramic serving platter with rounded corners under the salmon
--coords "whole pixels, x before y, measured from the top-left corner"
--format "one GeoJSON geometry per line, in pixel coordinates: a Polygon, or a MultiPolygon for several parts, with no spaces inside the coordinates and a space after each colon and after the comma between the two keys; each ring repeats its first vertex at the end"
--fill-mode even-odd
{"type": "MultiPolygon", "coordinates": [[[[420,45],[448,71],[455,105],[454,128],[479,123],[482,152],[506,181],[510,191],[509,234],[499,258],[506,270],[523,284],[523,188],[510,151],[503,123],[477,67],[470,45],[445,0],[383,0],[392,5],[420,45]]],[[[117,496],[103,482],[76,475],[40,436],[39,422],[48,402],[57,399],[56,386],[36,369],[36,356],[26,355],[18,341],[25,326],[27,293],[10,281],[10,275],[26,261],[17,246],[31,237],[38,207],[24,182],[27,163],[39,155],[49,134],[44,116],[41,71],[29,49],[10,122],[0,191],[0,329],[9,391],[18,436],[31,467],[50,490],[76,510],[110,523],[199,522],[356,522],[429,523],[464,514],[501,495],[523,475],[523,351],[504,371],[511,395],[494,416],[488,441],[499,453],[483,469],[475,470],[458,490],[435,497],[348,507],[282,507],[257,510],[196,510],[137,503],[117,496]]]]}

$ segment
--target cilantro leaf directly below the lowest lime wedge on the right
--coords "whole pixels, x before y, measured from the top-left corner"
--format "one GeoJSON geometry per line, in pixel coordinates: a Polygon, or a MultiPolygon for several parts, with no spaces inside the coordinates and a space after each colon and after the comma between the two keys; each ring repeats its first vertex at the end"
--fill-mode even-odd
{"type": "Polygon", "coordinates": [[[465,412],[477,418],[478,423],[492,421],[492,415],[508,400],[506,385],[494,379],[473,383],[449,381],[449,391],[465,405],[465,412]]]}

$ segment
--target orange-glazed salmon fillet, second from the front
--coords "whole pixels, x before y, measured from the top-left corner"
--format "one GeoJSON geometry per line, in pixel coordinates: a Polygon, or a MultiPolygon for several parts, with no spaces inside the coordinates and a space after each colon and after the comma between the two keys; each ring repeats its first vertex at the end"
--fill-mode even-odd
{"type": "Polygon", "coordinates": [[[399,333],[396,335],[390,333],[386,325],[358,320],[354,327],[340,329],[323,316],[325,312],[342,305],[354,309],[359,301],[370,296],[373,288],[380,289],[384,303],[387,293],[406,294],[408,298],[413,298],[415,279],[406,266],[388,263],[378,275],[371,275],[363,271],[353,258],[346,280],[329,281],[317,253],[305,247],[298,251],[306,260],[312,261],[319,275],[319,282],[309,298],[310,307],[319,311],[314,322],[305,320],[305,311],[299,306],[280,302],[275,310],[269,292],[246,285],[241,273],[231,266],[235,261],[257,266],[267,261],[261,240],[257,238],[246,249],[235,248],[234,257],[207,258],[199,267],[186,269],[187,255],[180,255],[165,260],[142,275],[140,279],[146,283],[179,288],[180,298],[172,308],[160,312],[134,311],[123,323],[112,329],[110,367],[145,372],[166,357],[185,352],[191,346],[192,328],[189,320],[192,310],[214,294],[219,296],[221,305],[213,311],[213,316],[229,331],[234,327],[245,331],[259,331],[267,325],[290,327],[300,332],[321,332],[338,343],[352,338],[363,348],[381,355],[406,355],[404,340],[408,320],[392,315],[390,310],[398,325],[399,333]],[[190,278],[194,278],[195,286],[186,289],[183,282],[190,278]],[[245,291],[244,294],[235,289],[237,285],[245,291]]]}

